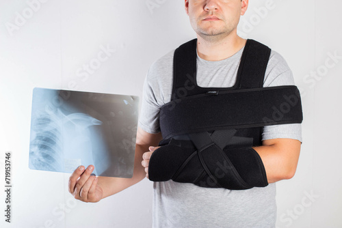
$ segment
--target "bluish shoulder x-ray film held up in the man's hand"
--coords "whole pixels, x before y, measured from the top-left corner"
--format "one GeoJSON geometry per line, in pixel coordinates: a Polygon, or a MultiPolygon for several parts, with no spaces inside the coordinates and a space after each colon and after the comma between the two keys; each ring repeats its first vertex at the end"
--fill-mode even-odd
{"type": "Polygon", "coordinates": [[[29,168],[132,177],[138,106],[137,96],[35,88],[29,168]]]}

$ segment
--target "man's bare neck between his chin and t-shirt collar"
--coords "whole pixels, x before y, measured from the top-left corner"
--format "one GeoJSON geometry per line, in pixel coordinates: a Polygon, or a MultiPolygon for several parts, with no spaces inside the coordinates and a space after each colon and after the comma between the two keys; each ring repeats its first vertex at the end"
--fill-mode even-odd
{"type": "Polygon", "coordinates": [[[231,57],[246,44],[238,35],[227,36],[220,40],[207,40],[197,35],[197,53],[201,59],[219,61],[231,57]]]}

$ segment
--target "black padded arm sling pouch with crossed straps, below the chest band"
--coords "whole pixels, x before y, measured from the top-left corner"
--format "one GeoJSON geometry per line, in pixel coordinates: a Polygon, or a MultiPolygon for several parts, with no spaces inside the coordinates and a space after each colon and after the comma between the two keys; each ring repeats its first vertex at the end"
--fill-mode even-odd
{"type": "Polygon", "coordinates": [[[198,140],[171,139],[153,152],[148,167],[150,180],[232,190],[267,186],[263,162],[251,147],[222,149],[214,141],[223,138],[215,139],[215,135],[207,132],[190,137],[198,140]]]}

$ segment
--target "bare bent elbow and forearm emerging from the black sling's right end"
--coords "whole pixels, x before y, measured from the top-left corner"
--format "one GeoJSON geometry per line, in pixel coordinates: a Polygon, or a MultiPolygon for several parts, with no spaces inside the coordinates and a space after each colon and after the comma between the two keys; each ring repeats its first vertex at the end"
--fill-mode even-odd
{"type": "Polygon", "coordinates": [[[291,179],[297,169],[300,141],[295,139],[270,139],[253,147],[263,160],[268,183],[291,179]]]}

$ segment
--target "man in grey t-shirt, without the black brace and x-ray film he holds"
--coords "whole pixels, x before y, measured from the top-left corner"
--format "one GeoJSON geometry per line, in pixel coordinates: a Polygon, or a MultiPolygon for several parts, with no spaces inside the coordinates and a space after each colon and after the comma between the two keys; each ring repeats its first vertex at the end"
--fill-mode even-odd
{"type": "MultiPolygon", "coordinates": [[[[185,0],[185,10],[197,33],[198,86],[235,84],[246,44],[237,35],[237,24],[247,8],[248,0],[185,0]]],[[[96,202],[148,177],[150,156],[162,139],[159,111],[171,100],[173,56],[174,51],[157,60],[144,83],[133,177],[97,178],[90,175],[92,165],[85,171],[81,166],[69,180],[69,191],[76,199],[96,202]]],[[[263,87],[278,85],[293,85],[293,76],[285,60],[272,51],[263,87]]],[[[265,126],[262,138],[262,145],[253,148],[265,167],[268,186],[228,190],[172,180],[155,182],[153,227],[274,227],[276,186],[273,183],[290,179],[295,173],[302,141],[300,124],[265,126]]]]}

